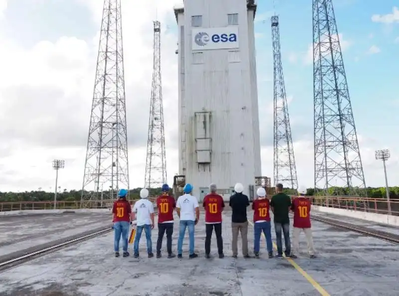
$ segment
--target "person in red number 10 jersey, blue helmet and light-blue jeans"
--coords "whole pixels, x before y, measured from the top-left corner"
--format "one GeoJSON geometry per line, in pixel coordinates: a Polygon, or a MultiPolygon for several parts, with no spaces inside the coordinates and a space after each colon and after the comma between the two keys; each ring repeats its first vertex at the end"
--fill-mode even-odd
{"type": "Polygon", "coordinates": [[[133,220],[132,207],[126,200],[128,190],[119,190],[118,197],[112,206],[112,222],[114,224],[114,251],[115,257],[119,257],[119,241],[122,235],[123,257],[128,257],[128,232],[130,220],[133,220]]]}

